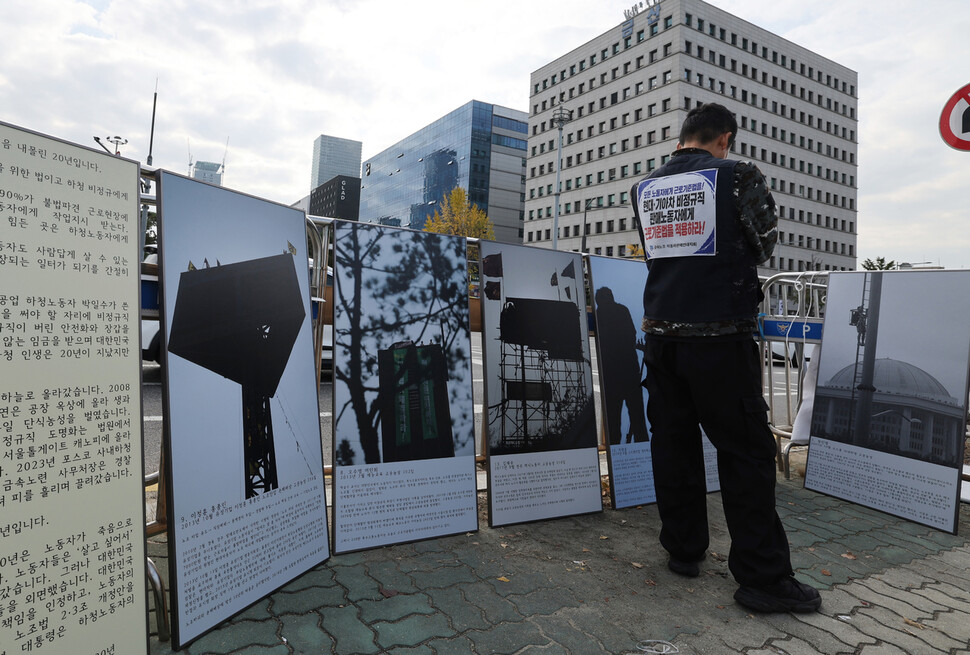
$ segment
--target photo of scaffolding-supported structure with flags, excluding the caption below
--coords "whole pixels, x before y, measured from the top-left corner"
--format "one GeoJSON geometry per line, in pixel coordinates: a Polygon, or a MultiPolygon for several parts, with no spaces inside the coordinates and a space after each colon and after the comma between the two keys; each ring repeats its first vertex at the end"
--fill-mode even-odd
{"type": "Polygon", "coordinates": [[[488,454],[595,448],[580,256],[493,242],[480,249],[488,454]]]}

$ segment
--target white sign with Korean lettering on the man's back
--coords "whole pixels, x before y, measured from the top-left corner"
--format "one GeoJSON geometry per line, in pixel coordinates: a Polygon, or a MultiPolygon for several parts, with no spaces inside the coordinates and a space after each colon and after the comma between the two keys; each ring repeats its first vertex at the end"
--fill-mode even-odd
{"type": "Polygon", "coordinates": [[[717,169],[644,180],[637,186],[647,259],[717,253],[717,169]]]}

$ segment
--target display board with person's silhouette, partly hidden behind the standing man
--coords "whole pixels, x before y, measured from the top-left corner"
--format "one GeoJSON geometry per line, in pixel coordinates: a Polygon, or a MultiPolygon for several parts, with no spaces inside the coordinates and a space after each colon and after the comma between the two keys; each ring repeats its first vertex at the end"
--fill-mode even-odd
{"type": "MultiPolygon", "coordinates": [[[[610,500],[614,509],[654,503],[649,394],[641,384],[647,374],[640,330],[647,267],[642,261],[591,256],[589,273],[610,500]]],[[[702,439],[707,490],[717,491],[717,451],[703,430],[702,439]]]]}

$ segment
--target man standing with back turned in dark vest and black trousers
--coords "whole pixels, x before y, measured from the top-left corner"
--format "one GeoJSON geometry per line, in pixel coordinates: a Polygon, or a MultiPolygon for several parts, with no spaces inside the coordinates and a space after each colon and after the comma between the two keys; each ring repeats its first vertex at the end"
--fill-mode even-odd
{"type": "Polygon", "coordinates": [[[717,448],[735,600],[760,612],[812,612],[821,598],[794,578],[775,511],[776,446],[753,339],[757,265],[774,249],[778,219],[761,171],[727,159],[737,132],[726,107],[695,107],[670,160],[633,187],[650,270],[644,385],[660,543],[670,570],[700,574],[709,543],[700,424],[717,448]]]}

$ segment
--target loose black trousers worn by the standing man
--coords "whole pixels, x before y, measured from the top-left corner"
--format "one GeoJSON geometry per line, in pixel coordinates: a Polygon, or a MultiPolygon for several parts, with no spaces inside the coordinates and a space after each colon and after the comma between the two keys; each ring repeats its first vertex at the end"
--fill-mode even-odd
{"type": "Polygon", "coordinates": [[[776,445],[755,342],[648,336],[644,358],[661,545],[693,561],[709,544],[700,424],[717,448],[735,580],[761,586],[791,575],[788,537],[775,510],[776,445]]]}

